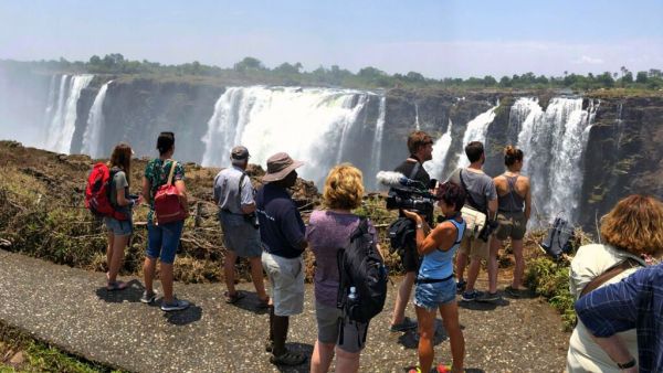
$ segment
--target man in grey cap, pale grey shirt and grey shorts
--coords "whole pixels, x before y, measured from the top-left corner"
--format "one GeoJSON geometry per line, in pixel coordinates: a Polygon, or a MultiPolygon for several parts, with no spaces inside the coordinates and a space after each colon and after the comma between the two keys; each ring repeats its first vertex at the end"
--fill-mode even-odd
{"type": "Polygon", "coordinates": [[[249,258],[251,277],[260,298],[259,306],[266,308],[270,297],[265,292],[263,278],[260,232],[251,220],[255,216],[253,185],[244,172],[249,164],[249,149],[242,146],[232,148],[230,161],[232,166],[221,170],[214,178],[214,202],[219,205],[219,221],[227,249],[223,275],[228,291],[224,297],[228,303],[234,303],[244,297],[234,287],[234,265],[238,256],[249,258]]]}

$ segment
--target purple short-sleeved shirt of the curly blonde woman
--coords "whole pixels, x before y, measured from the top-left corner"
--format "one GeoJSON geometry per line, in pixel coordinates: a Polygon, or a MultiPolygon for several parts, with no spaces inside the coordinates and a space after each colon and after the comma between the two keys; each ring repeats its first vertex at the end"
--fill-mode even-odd
{"type": "MultiPolygon", "coordinates": [[[[355,214],[343,214],[328,210],[316,210],[311,214],[306,227],[306,241],[315,255],[315,299],[329,307],[336,307],[338,292],[338,249],[347,245],[352,231],[361,219],[355,214]]],[[[376,237],[376,228],[368,222],[370,234],[376,237]]]]}

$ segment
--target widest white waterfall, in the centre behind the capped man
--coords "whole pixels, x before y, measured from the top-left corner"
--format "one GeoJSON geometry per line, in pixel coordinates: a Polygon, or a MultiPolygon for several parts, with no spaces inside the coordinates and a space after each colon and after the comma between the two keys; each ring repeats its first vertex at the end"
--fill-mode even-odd
{"type": "MultiPolygon", "coordinates": [[[[349,160],[350,132],[362,125],[370,97],[350,89],[230,87],[217,100],[202,137],[203,166],[225,166],[235,145],[249,148],[251,162],[265,166],[286,151],[306,162],[297,172],[317,185],[336,161],[349,160]]],[[[383,121],[383,114],[381,114],[383,121]]],[[[379,125],[381,130],[381,125],[379,125]]],[[[377,137],[377,136],[376,136],[377,137]]]]}

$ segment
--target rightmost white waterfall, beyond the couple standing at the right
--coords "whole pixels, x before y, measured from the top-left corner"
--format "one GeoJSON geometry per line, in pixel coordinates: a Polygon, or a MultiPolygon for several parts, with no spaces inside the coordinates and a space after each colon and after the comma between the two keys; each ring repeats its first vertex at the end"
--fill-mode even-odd
{"type": "Polygon", "coordinates": [[[533,220],[564,216],[575,222],[582,186],[581,160],[588,128],[593,119],[591,105],[582,109],[581,98],[552,98],[544,111],[537,100],[519,98],[513,115],[524,118],[518,148],[525,153],[523,173],[532,179],[533,220]]]}

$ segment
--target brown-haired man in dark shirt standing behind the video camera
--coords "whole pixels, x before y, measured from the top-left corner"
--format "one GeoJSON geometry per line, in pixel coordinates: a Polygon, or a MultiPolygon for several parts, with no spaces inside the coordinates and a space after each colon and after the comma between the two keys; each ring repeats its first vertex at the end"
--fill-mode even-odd
{"type": "MultiPolygon", "coordinates": [[[[410,157],[399,164],[394,171],[402,173],[408,179],[420,181],[425,186],[430,186],[431,178],[423,168],[423,162],[433,159],[433,139],[424,131],[413,131],[408,137],[408,150],[410,151],[410,157]]],[[[407,331],[417,328],[417,321],[406,317],[406,308],[408,307],[412,286],[414,285],[414,277],[419,269],[419,255],[414,249],[413,243],[403,251],[401,260],[406,275],[396,295],[391,324],[389,327],[391,331],[407,331]]]]}

